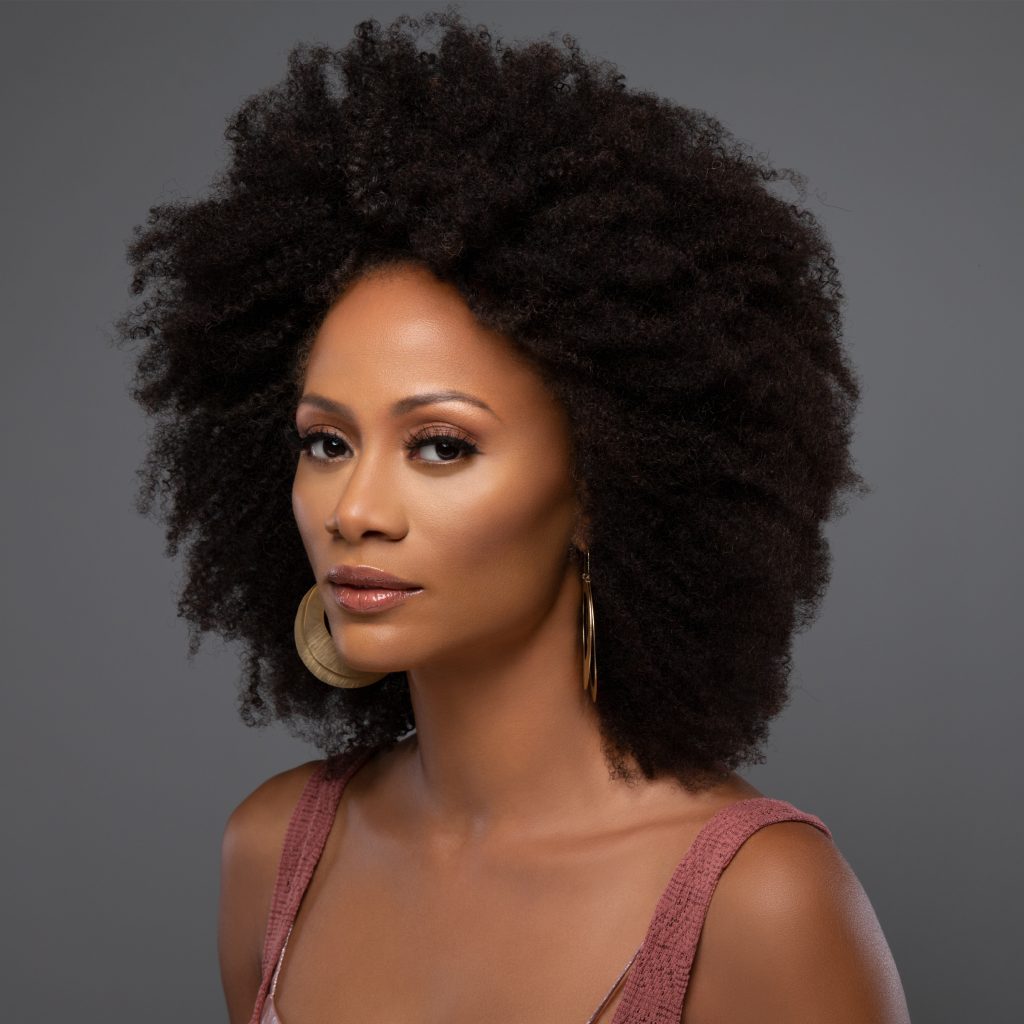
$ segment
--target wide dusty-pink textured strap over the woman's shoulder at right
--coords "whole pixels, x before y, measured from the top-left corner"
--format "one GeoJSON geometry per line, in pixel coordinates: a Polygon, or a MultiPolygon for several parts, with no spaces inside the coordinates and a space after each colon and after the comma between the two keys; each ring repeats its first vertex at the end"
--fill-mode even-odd
{"type": "Polygon", "coordinates": [[[825,823],[784,800],[752,797],[705,823],[654,909],[611,1024],[679,1024],[700,930],[719,877],[754,833],[776,821],[825,823]]]}

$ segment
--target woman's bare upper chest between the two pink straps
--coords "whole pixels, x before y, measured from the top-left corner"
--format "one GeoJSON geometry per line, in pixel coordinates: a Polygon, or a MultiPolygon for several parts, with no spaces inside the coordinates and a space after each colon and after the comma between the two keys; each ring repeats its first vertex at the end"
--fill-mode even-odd
{"type": "MultiPolygon", "coordinates": [[[[278,981],[284,1024],[587,1024],[697,823],[526,856],[329,844],[278,981]]],[[[610,1024],[626,978],[595,1019],[610,1024]]],[[[694,1008],[682,1024],[699,1024],[694,1008]]]]}

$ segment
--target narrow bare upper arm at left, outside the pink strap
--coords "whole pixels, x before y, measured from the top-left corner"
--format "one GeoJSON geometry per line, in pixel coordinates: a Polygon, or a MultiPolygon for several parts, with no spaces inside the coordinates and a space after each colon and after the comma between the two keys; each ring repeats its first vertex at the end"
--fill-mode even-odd
{"type": "Polygon", "coordinates": [[[268,778],[231,811],[220,852],[217,953],[230,1024],[247,1024],[262,978],[263,937],[285,833],[312,770],[268,778]]]}

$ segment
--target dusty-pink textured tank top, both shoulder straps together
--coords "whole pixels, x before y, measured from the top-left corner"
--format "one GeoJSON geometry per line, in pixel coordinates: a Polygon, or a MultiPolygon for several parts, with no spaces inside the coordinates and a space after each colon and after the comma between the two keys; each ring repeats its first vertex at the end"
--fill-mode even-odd
{"type": "MultiPolygon", "coordinates": [[[[325,777],[329,764],[325,759],[306,781],[285,834],[263,939],[263,975],[249,1024],[288,1024],[278,1015],[273,991],[292,924],[324,851],[345,783],[377,750],[361,748],[338,755],[347,765],[332,779],[325,777]]],[[[805,821],[833,838],[820,818],[771,797],[740,800],[714,814],[676,865],[643,942],[586,1024],[597,1021],[631,968],[610,1024],[679,1024],[690,967],[719,877],[754,833],[776,821],[805,821]]]]}

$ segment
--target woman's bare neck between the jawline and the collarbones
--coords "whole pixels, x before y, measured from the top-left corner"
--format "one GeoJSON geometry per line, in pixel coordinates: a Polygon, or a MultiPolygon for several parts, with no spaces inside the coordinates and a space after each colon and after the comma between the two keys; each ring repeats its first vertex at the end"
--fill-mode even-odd
{"type": "Polygon", "coordinates": [[[583,688],[581,602],[570,567],[530,635],[410,671],[406,792],[425,829],[456,846],[579,835],[641,799],[611,778],[601,750],[583,688]]]}

